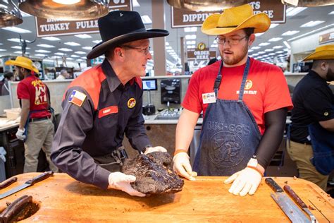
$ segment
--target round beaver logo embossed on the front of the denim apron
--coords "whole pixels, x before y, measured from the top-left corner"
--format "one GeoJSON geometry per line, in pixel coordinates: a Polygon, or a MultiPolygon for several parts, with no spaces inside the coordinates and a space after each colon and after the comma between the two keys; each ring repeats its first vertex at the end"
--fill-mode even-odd
{"type": "Polygon", "coordinates": [[[211,162],[220,167],[234,167],[245,157],[245,145],[240,136],[231,132],[219,132],[212,138],[213,150],[209,150],[211,162]]]}

